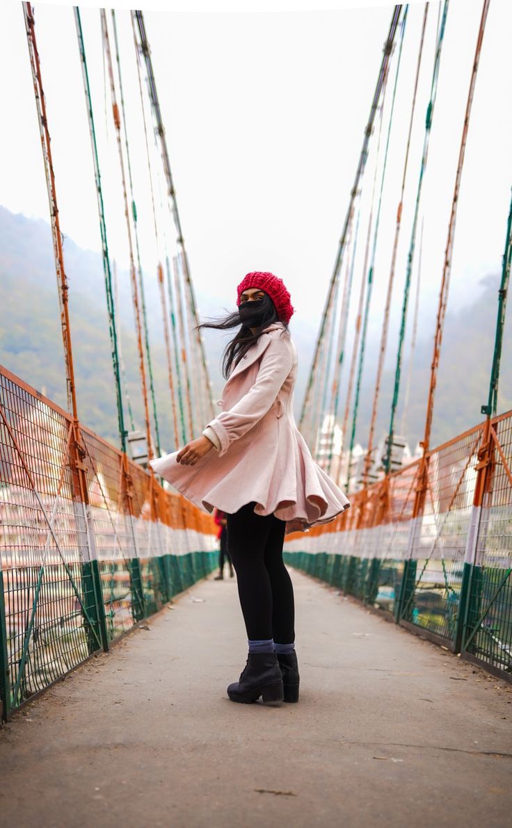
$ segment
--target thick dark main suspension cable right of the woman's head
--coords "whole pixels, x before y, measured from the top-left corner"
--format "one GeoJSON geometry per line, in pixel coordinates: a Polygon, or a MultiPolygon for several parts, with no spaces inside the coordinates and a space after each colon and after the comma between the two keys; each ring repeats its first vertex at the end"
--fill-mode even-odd
{"type": "Polygon", "coordinates": [[[317,363],[318,363],[318,360],[319,360],[319,357],[320,357],[321,345],[323,343],[323,338],[324,338],[324,333],[325,333],[326,318],[327,318],[327,315],[329,314],[329,312],[331,310],[331,304],[332,304],[332,299],[333,299],[333,295],[334,295],[334,289],[335,289],[335,286],[336,286],[336,280],[339,276],[339,269],[341,267],[342,257],[343,257],[343,254],[345,252],[345,243],[346,243],[348,227],[349,227],[349,222],[350,222],[350,214],[352,213],[354,200],[355,200],[355,197],[357,195],[358,188],[359,188],[360,177],[362,176],[362,173],[365,170],[366,161],[367,161],[367,158],[368,158],[368,147],[369,147],[369,143],[370,143],[370,137],[371,137],[371,134],[373,132],[374,118],[375,118],[375,114],[377,112],[377,108],[379,106],[380,94],[381,94],[381,91],[382,91],[382,85],[383,85],[383,82],[384,82],[384,78],[386,77],[387,72],[388,72],[389,57],[390,57],[392,47],[393,47],[394,36],[395,36],[396,31],[397,31],[398,19],[400,17],[401,9],[402,9],[401,5],[396,5],[394,7],[392,18],[391,18],[391,24],[389,26],[388,38],[387,38],[387,40],[385,41],[385,44],[384,44],[384,54],[383,54],[383,58],[382,58],[380,69],[379,69],[379,77],[377,79],[377,84],[376,84],[375,89],[374,89],[374,96],[373,96],[371,107],[370,107],[370,117],[369,117],[368,123],[366,124],[366,127],[365,127],[365,134],[364,134],[364,138],[363,138],[363,144],[362,144],[361,151],[360,151],[360,157],[359,157],[358,165],[357,165],[357,168],[356,168],[356,171],[355,171],[355,181],[354,181],[354,185],[352,186],[352,189],[350,190],[349,207],[347,209],[346,216],[345,216],[345,224],[344,224],[343,229],[341,231],[341,238],[340,238],[340,242],[338,244],[338,250],[337,250],[337,253],[336,253],[336,261],[335,261],[335,265],[334,265],[333,272],[332,272],[332,275],[331,275],[331,282],[329,284],[329,288],[328,288],[328,291],[327,291],[326,304],[324,306],[324,310],[323,310],[322,317],[321,317],[321,327],[320,327],[320,330],[319,330],[319,333],[318,333],[318,336],[317,336],[317,339],[316,339],[315,352],[313,354],[313,359],[312,359],[312,367],[310,369],[309,378],[308,378],[308,382],[307,382],[306,394],[305,394],[305,397],[304,397],[304,402],[302,404],[302,412],[301,412],[301,416],[300,416],[300,420],[299,420],[299,428],[302,428],[302,424],[304,422],[306,412],[307,412],[307,410],[310,406],[310,401],[311,401],[311,397],[312,397],[313,382],[314,382],[314,379],[316,377],[316,367],[317,367],[317,363]]]}

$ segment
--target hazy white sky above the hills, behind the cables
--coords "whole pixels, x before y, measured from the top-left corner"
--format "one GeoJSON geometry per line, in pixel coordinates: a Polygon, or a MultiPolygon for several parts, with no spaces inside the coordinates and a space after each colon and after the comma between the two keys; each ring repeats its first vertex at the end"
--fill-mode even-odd
{"type": "MultiPolygon", "coordinates": [[[[413,195],[418,182],[438,7],[438,3],[431,3],[427,23],[398,254],[393,325],[398,319],[413,195]]],[[[431,329],[433,333],[433,313],[481,7],[481,0],[452,0],[448,12],[421,209],[425,217],[421,306],[425,333],[431,329]]],[[[297,310],[292,330],[294,326],[296,330],[302,326],[303,330],[316,334],[391,9],[391,5],[379,3],[374,7],[324,12],[145,12],[200,310],[210,313],[233,306],[234,288],[245,272],[272,270],[283,277],[292,292],[297,310]]],[[[126,263],[126,231],[109,94],[105,106],[99,12],[85,8],[82,15],[104,178],[109,246],[111,253],[126,263]]],[[[389,272],[422,17],[423,3],[413,3],[398,80],[375,267],[371,312],[374,337],[379,335],[389,272]]],[[[157,253],[152,237],[128,11],[118,12],[118,29],[142,258],[151,276],[157,253]]],[[[512,182],[510,31],[512,3],[492,0],[461,185],[450,309],[476,295],[482,276],[500,270],[512,182]]],[[[62,228],[81,246],[99,250],[89,133],[71,7],[36,4],[36,36],[62,228]]],[[[394,79],[395,61],[396,55],[391,79],[394,79]]],[[[0,203],[15,212],[48,219],[19,3],[7,3],[3,9],[0,72],[3,79],[0,203]],[[10,82],[6,83],[6,79],[10,82]]],[[[384,128],[388,115],[389,98],[384,108],[384,128]]],[[[152,161],[155,164],[158,161],[154,147],[152,161]]],[[[373,165],[374,156],[370,155],[365,179],[367,201],[373,165]]],[[[360,252],[363,246],[361,242],[360,252]]],[[[359,280],[360,275],[356,274],[356,278],[359,280]]],[[[70,282],[72,290],[71,279],[70,282]]],[[[98,285],[102,291],[101,272],[98,285]]],[[[311,354],[302,355],[302,359],[310,357],[311,354]]]]}

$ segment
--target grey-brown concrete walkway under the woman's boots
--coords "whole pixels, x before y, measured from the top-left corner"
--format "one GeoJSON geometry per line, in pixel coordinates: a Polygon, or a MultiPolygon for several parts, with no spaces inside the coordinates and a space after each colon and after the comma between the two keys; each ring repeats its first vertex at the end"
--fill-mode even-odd
{"type": "Polygon", "coordinates": [[[234,705],[233,580],[53,687],[0,733],[2,825],[510,826],[512,686],[294,573],[298,705],[234,705]]]}

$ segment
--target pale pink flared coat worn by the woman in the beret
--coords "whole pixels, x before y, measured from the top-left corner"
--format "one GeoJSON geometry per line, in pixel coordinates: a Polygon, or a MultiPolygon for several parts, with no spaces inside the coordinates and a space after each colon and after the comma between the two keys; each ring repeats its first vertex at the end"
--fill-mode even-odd
{"type": "Polygon", "coordinates": [[[196,506],[234,513],[274,513],[286,532],[334,520],[350,506],[345,494],[312,459],[293,416],[297,350],[283,323],[269,325],[232,368],[208,426],[220,449],[181,465],[177,451],[152,460],[157,474],[196,506]]]}

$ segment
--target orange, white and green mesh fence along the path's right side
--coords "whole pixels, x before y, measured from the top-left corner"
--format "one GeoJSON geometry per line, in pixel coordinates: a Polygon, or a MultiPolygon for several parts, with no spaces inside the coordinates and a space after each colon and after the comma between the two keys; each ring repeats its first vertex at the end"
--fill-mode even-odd
{"type": "Polygon", "coordinates": [[[418,465],[355,493],[334,524],[287,538],[290,566],[398,623],[512,676],[512,414],[491,421],[490,468],[474,504],[484,424],[418,465]]]}

